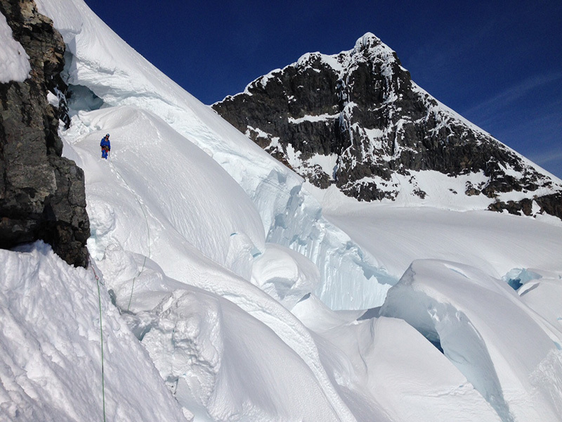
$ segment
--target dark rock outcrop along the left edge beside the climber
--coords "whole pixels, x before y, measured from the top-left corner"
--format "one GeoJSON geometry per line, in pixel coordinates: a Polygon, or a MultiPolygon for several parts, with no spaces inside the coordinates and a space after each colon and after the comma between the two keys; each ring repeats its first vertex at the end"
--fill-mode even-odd
{"type": "Polygon", "coordinates": [[[0,13],[32,68],[25,82],[0,83],[0,248],[42,239],[69,264],[86,267],[84,172],[61,157],[64,101],[58,109],[47,101],[49,91],[64,99],[63,38],[34,1],[0,0],[0,13]]]}

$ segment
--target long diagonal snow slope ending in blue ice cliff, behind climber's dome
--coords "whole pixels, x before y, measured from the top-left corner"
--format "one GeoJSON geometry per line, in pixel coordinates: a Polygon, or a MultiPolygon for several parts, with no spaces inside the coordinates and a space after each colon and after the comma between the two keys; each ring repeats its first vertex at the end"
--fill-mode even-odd
{"type": "MultiPolygon", "coordinates": [[[[343,309],[381,305],[390,287],[388,283],[397,279],[377,269],[373,257],[322,217],[316,200],[301,188],[301,177],[150,65],[83,1],[37,3],[41,12],[53,18],[67,43],[70,89],[89,93],[89,101],[74,103],[75,107],[131,106],[161,117],[181,136],[211,155],[244,189],[259,212],[268,242],[297,250],[317,264],[321,281],[316,293],[322,300],[343,309]],[[350,270],[346,276],[337,270],[339,264],[350,270]],[[351,294],[342,281],[365,288],[354,288],[355,293],[351,294]]],[[[116,127],[118,120],[107,123],[116,127]]],[[[102,135],[107,132],[101,125],[96,130],[102,135]]],[[[115,136],[112,139],[117,142],[115,136]]],[[[114,147],[112,153],[117,151],[114,147]]],[[[235,232],[238,233],[232,233],[235,232]]],[[[241,236],[233,238],[232,243],[249,236],[261,249],[251,235],[241,236]]],[[[248,245],[244,240],[241,243],[248,245]]],[[[236,260],[233,257],[232,261],[236,260]]]]}

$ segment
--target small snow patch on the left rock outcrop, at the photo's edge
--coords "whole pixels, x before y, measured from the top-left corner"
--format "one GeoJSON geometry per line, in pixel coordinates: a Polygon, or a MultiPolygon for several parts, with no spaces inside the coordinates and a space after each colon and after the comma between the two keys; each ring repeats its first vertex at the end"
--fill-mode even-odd
{"type": "Polygon", "coordinates": [[[0,13],[0,83],[23,82],[30,75],[30,56],[18,41],[13,39],[6,16],[0,13]]]}

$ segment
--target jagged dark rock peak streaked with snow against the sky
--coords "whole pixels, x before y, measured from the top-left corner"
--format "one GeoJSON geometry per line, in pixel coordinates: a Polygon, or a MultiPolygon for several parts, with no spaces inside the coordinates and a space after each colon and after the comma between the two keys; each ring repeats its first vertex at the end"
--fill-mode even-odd
{"type": "MultiPolygon", "coordinates": [[[[372,34],[335,56],[306,54],[212,107],[315,186],[335,184],[359,200],[395,199],[402,190],[425,198],[427,186],[417,179],[424,170],[465,177],[466,191],[448,191],[487,196],[494,210],[509,208],[502,193],[528,192],[532,200],[539,188],[562,191],[417,87],[372,34]]],[[[542,198],[542,212],[562,218],[560,195],[542,198]]]]}

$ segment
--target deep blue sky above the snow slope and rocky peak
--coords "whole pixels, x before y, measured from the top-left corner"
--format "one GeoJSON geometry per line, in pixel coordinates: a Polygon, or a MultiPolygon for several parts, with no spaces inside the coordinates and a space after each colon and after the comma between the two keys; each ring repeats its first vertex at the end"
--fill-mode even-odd
{"type": "Polygon", "coordinates": [[[419,86],[562,177],[561,0],[86,3],[207,104],[372,32],[419,86]]]}

